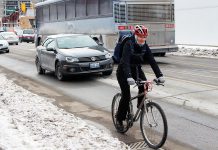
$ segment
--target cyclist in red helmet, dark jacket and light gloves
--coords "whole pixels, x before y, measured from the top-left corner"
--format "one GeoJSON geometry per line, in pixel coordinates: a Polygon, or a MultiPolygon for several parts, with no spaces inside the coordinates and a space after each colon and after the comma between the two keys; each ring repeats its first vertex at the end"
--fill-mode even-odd
{"type": "MultiPolygon", "coordinates": [[[[117,112],[117,126],[120,130],[124,128],[123,121],[126,119],[131,97],[130,85],[135,84],[137,71],[138,77],[142,80],[146,80],[145,74],[141,69],[141,64],[144,63],[144,61],[148,61],[158,79],[158,82],[165,82],[163,74],[146,43],[147,36],[148,29],[143,25],[136,25],[134,27],[133,35],[123,46],[122,57],[116,73],[122,94],[117,112]]],[[[140,86],[138,92],[141,93],[143,91],[144,86],[140,86]]],[[[138,105],[142,99],[143,97],[138,98],[138,105]]]]}

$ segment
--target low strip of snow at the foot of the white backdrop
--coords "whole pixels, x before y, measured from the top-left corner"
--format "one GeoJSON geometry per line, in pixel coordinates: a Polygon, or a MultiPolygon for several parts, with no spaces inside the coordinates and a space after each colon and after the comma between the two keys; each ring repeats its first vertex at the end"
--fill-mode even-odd
{"type": "Polygon", "coordinates": [[[179,45],[177,52],[170,53],[172,55],[187,55],[196,57],[218,58],[218,47],[205,46],[184,46],[179,45]]]}

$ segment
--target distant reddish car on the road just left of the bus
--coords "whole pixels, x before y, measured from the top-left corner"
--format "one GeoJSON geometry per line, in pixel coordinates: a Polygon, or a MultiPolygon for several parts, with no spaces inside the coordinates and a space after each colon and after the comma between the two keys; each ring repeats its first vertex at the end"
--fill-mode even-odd
{"type": "Polygon", "coordinates": [[[24,29],[23,34],[20,38],[20,42],[32,42],[34,43],[35,33],[33,29],[24,29]]]}

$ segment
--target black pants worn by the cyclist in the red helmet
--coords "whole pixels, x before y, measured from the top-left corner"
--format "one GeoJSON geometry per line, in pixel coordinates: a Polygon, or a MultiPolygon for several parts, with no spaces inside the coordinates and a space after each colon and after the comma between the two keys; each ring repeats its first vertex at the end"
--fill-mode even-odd
{"type": "MultiPolygon", "coordinates": [[[[136,67],[131,67],[131,74],[132,78],[137,80],[137,71],[136,67]]],[[[141,69],[141,66],[138,66],[138,77],[142,80],[146,80],[145,74],[141,69]]],[[[120,85],[122,98],[119,103],[118,112],[117,112],[117,119],[122,121],[126,119],[126,114],[129,109],[129,101],[130,101],[130,86],[128,85],[127,78],[123,72],[122,66],[118,66],[117,69],[117,80],[120,85]]],[[[139,86],[138,93],[144,92],[144,86],[139,86]]],[[[143,96],[138,98],[138,105],[142,101],[143,96]]]]}

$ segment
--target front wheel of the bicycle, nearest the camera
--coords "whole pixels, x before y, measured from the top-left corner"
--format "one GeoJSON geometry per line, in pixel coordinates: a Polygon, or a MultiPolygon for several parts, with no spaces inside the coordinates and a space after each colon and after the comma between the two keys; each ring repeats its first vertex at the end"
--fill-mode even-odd
{"type": "Polygon", "coordinates": [[[167,119],[162,108],[154,102],[146,104],[140,118],[142,136],[149,147],[158,149],[167,139],[167,119]]]}

